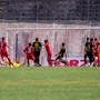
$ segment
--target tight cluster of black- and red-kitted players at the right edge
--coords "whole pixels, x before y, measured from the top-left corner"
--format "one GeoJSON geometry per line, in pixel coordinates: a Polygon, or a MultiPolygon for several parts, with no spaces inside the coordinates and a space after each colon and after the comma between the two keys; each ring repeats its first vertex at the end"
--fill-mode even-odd
{"type": "Polygon", "coordinates": [[[100,37],[97,38],[87,38],[84,44],[84,64],[93,67],[94,60],[98,58],[98,67],[100,66],[100,37]],[[87,58],[89,58],[89,64],[87,64],[87,58]]]}

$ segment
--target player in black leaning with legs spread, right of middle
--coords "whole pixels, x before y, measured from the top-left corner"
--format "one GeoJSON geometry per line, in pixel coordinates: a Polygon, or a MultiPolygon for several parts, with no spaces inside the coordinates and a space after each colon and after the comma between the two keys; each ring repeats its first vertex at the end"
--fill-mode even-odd
{"type": "Polygon", "coordinates": [[[60,60],[62,63],[67,64],[67,62],[62,60],[62,58],[64,57],[64,54],[66,54],[66,58],[67,58],[66,47],[64,47],[64,43],[62,42],[60,52],[58,54],[56,54],[57,58],[56,58],[56,63],[54,64],[57,64],[57,60],[60,60]]]}

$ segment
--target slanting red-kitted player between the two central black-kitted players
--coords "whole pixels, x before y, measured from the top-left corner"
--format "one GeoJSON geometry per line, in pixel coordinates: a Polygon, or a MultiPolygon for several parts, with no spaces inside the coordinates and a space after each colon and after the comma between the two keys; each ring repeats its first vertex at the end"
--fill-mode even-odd
{"type": "Polygon", "coordinates": [[[44,40],[44,47],[46,47],[47,56],[48,56],[47,60],[48,60],[49,66],[51,67],[53,60],[51,59],[52,52],[51,52],[50,44],[49,44],[48,40],[44,40]]]}

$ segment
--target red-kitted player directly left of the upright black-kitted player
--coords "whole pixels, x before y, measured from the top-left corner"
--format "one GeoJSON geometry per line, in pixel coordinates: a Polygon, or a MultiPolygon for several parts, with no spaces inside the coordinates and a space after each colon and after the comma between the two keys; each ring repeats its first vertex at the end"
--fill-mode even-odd
{"type": "Polygon", "coordinates": [[[36,60],[36,58],[33,56],[33,47],[32,47],[32,44],[29,42],[29,46],[23,51],[27,53],[28,66],[30,66],[29,60],[32,60],[33,62],[36,60]]]}

